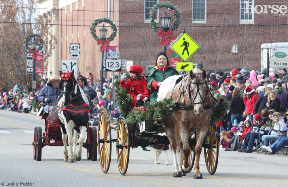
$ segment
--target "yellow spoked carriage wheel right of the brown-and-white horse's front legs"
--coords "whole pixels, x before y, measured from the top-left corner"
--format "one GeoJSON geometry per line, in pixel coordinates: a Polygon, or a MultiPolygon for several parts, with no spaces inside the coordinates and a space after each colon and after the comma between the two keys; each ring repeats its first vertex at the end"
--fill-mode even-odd
{"type": "Polygon", "coordinates": [[[219,146],[218,134],[217,134],[216,125],[214,124],[210,128],[209,145],[204,146],[204,156],[205,156],[206,167],[210,175],[213,175],[217,169],[218,154],[219,154],[218,146],[219,146]]]}

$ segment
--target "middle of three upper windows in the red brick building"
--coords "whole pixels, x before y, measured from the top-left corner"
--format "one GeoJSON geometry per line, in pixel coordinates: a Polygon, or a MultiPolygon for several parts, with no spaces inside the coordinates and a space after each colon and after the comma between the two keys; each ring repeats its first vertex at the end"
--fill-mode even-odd
{"type": "Polygon", "coordinates": [[[192,2],[192,20],[206,21],[206,0],[193,0],[192,2]]]}

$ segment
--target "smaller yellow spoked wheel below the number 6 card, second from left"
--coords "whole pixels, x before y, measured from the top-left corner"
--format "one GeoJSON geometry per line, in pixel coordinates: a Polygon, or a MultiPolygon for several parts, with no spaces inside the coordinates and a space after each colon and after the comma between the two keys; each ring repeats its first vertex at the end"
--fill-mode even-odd
{"type": "Polygon", "coordinates": [[[118,168],[121,175],[125,175],[129,163],[129,134],[128,125],[125,118],[121,118],[118,124],[117,140],[116,140],[116,154],[118,168]]]}

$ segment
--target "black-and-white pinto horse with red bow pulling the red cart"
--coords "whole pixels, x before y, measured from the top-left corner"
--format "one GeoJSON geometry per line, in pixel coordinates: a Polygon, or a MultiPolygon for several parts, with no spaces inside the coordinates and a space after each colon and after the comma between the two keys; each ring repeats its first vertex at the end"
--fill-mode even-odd
{"type": "Polygon", "coordinates": [[[71,73],[59,72],[61,76],[59,87],[62,89],[62,94],[57,99],[57,106],[60,108],[58,110],[58,121],[61,126],[64,145],[64,161],[73,163],[76,160],[81,160],[82,145],[89,121],[90,106],[84,91],[77,84],[74,70],[71,73]],[[74,133],[72,132],[73,130],[74,133]],[[79,133],[79,149],[77,154],[75,154],[79,133]],[[67,136],[70,148],[69,158],[66,144],[67,136]]]}

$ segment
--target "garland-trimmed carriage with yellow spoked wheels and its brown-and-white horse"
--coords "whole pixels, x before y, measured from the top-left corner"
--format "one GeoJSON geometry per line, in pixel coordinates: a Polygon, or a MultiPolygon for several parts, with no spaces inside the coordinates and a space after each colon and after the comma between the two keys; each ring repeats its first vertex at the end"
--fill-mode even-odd
{"type": "MultiPolygon", "coordinates": [[[[114,83],[114,86],[117,87],[117,81],[114,83]]],[[[120,89],[118,85],[118,94],[120,96],[124,96],[123,101],[117,100],[118,105],[124,104],[126,102],[125,92],[123,89],[120,89]]],[[[127,95],[128,96],[128,95],[127,95]]],[[[189,173],[192,170],[192,167],[195,162],[195,173],[194,178],[202,178],[202,174],[199,171],[199,156],[202,151],[202,147],[204,148],[204,157],[206,162],[206,167],[208,169],[208,172],[213,175],[217,169],[217,163],[218,163],[218,135],[216,130],[215,121],[223,118],[224,113],[227,111],[229,107],[229,102],[227,105],[227,102],[223,104],[222,101],[215,102],[215,98],[209,91],[207,81],[206,81],[206,72],[203,71],[197,72],[194,74],[192,71],[190,72],[190,75],[186,76],[172,76],[167,78],[161,85],[159,92],[158,92],[158,98],[157,102],[164,101],[165,98],[169,98],[169,101],[173,100],[175,102],[175,108],[171,107],[169,104],[167,105],[168,109],[165,109],[165,106],[167,103],[163,103],[162,106],[164,107],[163,110],[167,110],[167,113],[162,116],[162,118],[147,118],[147,116],[153,116],[146,114],[146,108],[144,108],[145,111],[143,111],[143,107],[140,108],[134,108],[133,111],[130,110],[129,113],[133,112],[142,112],[142,117],[140,120],[140,117],[131,117],[131,115],[124,115],[127,117],[126,119],[122,117],[118,124],[117,129],[117,136],[115,139],[112,139],[111,137],[111,126],[108,119],[108,114],[105,109],[101,111],[99,123],[98,123],[98,153],[99,153],[99,160],[101,169],[104,173],[107,173],[110,166],[111,161],[111,143],[116,142],[116,153],[117,153],[117,162],[118,162],[118,168],[122,175],[125,175],[128,169],[128,163],[129,163],[129,155],[130,155],[130,148],[135,147],[143,147],[145,150],[145,147],[149,145],[169,145],[171,147],[171,150],[173,152],[174,157],[174,177],[181,177],[185,176],[185,173],[189,173]],[[192,81],[194,79],[194,81],[192,81]],[[204,82],[203,82],[203,81],[204,82]],[[161,89],[162,88],[162,89],[161,89]],[[167,90],[170,92],[167,93],[167,90]],[[179,94],[174,94],[174,90],[179,90],[179,94]],[[188,92],[185,94],[185,92],[188,92]],[[206,92],[206,93],[205,93],[206,92]],[[180,100],[181,94],[183,96],[183,99],[180,100]],[[184,95],[185,94],[185,95],[184,95]],[[198,95],[198,96],[197,96],[198,95]],[[170,96],[170,97],[169,97],[170,96]],[[179,97],[179,98],[178,98],[179,97]],[[188,100],[191,102],[190,105],[184,104],[185,100],[188,100]],[[182,102],[181,102],[182,101],[182,102]],[[222,103],[222,106],[219,107],[222,103]],[[215,108],[215,104],[219,105],[215,108]],[[201,105],[198,107],[197,105],[201,105]],[[141,109],[142,108],[142,109],[141,109]],[[221,109],[220,109],[221,108],[221,109]],[[192,111],[194,109],[194,113],[192,111]],[[212,117],[212,111],[214,113],[214,109],[218,110],[217,114],[215,114],[212,117]],[[202,110],[202,111],[201,111],[202,110]],[[181,113],[183,112],[184,113],[181,113]],[[205,112],[204,112],[205,111],[205,112]],[[207,111],[207,113],[206,113],[207,111]],[[145,114],[144,114],[145,113],[145,114]],[[206,116],[203,117],[202,116],[206,116]],[[217,116],[218,115],[218,116],[217,116]],[[182,117],[182,119],[180,118],[182,117]],[[131,120],[131,118],[136,120],[131,120]],[[193,119],[194,118],[194,119],[193,119]],[[213,118],[213,119],[211,119],[213,118]],[[196,120],[197,119],[197,120],[196,120]],[[154,123],[157,123],[159,127],[163,126],[161,122],[164,122],[165,124],[165,130],[167,136],[160,136],[155,132],[155,130],[145,130],[144,132],[141,132],[139,129],[141,129],[142,123],[141,121],[144,120],[152,121],[154,123]],[[177,121],[177,123],[173,124],[173,120],[177,121]],[[195,120],[196,122],[191,122],[195,120]],[[127,123],[128,121],[128,123],[127,123]],[[134,121],[134,122],[133,122],[134,121]],[[137,121],[135,123],[135,121],[137,121]],[[139,123],[140,122],[140,123],[139,123]],[[129,124],[130,123],[130,124],[129,124]],[[186,124],[185,124],[186,123],[186,124]],[[192,123],[192,125],[190,125],[192,123]],[[202,125],[202,123],[204,123],[202,125]],[[205,124],[206,123],[206,124],[205,124]],[[138,125],[139,124],[139,125],[138,125]],[[170,125],[173,124],[173,125],[170,125]],[[189,125],[188,125],[189,124],[189,125]],[[175,130],[179,130],[178,134],[175,134],[175,130]],[[208,132],[208,133],[207,133],[208,132]],[[170,136],[170,137],[169,137],[170,136]],[[188,139],[189,138],[189,139],[188,139]],[[137,139],[142,139],[144,141],[137,141],[137,139]],[[176,140],[178,139],[178,145],[180,144],[180,157],[179,157],[179,163],[177,163],[177,158],[175,156],[175,149],[176,149],[176,140]],[[203,141],[204,140],[204,141],[203,141]],[[172,144],[171,144],[172,143],[172,144]],[[189,143],[189,146],[188,146],[189,143]],[[200,148],[199,148],[200,147],[200,148]],[[181,150],[182,149],[182,150],[181,150]],[[197,158],[198,157],[198,158],[197,158]],[[176,160],[176,163],[175,163],[176,160]],[[184,163],[183,165],[181,165],[184,163]],[[179,169],[178,169],[179,168],[179,169]],[[197,172],[196,172],[197,171],[197,172]]],[[[166,100],[167,101],[167,100],[166,100]]],[[[157,104],[157,102],[152,105],[154,107],[157,104]]],[[[159,103],[158,102],[158,103],[159,103]]],[[[152,103],[152,102],[151,102],[152,103]]],[[[161,105],[161,104],[160,104],[161,105]]],[[[144,107],[147,105],[144,105],[144,107]]],[[[123,107],[122,107],[123,109],[123,107]]],[[[156,109],[156,108],[155,108],[156,109]]],[[[153,107],[150,111],[153,111],[153,107]]]]}

